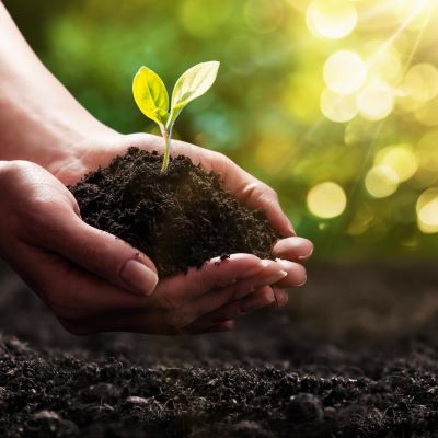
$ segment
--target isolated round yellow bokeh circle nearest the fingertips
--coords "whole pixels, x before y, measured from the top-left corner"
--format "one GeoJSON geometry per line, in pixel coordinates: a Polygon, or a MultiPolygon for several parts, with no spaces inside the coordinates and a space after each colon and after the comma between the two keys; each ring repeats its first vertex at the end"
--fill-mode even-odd
{"type": "Polygon", "coordinates": [[[344,189],[336,183],[325,182],[312,187],[307,196],[309,211],[323,219],[342,215],[347,206],[344,189]]]}

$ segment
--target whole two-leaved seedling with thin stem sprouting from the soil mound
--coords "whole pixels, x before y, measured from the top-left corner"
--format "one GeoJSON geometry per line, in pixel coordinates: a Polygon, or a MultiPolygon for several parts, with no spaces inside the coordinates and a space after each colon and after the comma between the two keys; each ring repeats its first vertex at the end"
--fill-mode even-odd
{"type": "Polygon", "coordinates": [[[216,80],[219,62],[197,64],[185,71],[176,81],[172,92],[169,112],[168,90],[161,78],[148,67],[140,67],[132,82],[134,100],[140,111],[160,127],[164,140],[164,157],[161,173],[169,165],[172,128],[183,108],[195,99],[205,94],[216,80]]]}

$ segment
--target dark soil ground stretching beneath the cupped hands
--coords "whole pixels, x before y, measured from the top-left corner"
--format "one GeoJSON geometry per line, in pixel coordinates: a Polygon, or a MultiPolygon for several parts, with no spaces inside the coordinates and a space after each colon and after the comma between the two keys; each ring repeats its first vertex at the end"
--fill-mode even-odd
{"type": "Polygon", "coordinates": [[[0,436],[438,437],[437,285],[325,263],[234,333],[74,337],[3,268],[0,436]]]}

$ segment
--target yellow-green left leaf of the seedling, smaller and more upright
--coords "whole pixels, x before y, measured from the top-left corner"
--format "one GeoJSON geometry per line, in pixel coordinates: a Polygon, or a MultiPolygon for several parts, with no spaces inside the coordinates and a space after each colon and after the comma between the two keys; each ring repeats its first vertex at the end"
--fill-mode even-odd
{"type": "Polygon", "coordinates": [[[169,95],[161,78],[148,67],[140,67],[132,82],[134,100],[140,111],[159,125],[169,119],[169,95]]]}

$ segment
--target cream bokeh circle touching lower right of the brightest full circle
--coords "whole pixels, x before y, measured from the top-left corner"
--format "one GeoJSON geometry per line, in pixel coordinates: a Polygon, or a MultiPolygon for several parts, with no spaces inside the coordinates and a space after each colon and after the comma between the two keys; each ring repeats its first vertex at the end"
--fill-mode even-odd
{"type": "Polygon", "coordinates": [[[394,91],[385,82],[373,80],[357,96],[361,116],[369,120],[381,120],[394,110],[394,91]]]}

